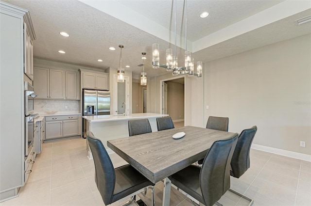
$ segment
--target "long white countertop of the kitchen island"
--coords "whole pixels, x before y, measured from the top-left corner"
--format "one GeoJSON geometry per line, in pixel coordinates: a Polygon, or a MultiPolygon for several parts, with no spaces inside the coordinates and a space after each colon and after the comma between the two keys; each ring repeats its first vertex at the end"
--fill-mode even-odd
{"type": "Polygon", "coordinates": [[[110,121],[120,121],[120,120],[132,120],[132,119],[141,119],[141,118],[156,118],[169,116],[168,114],[157,114],[157,113],[134,113],[127,114],[112,114],[112,115],[93,115],[93,116],[83,116],[84,119],[89,123],[95,122],[110,122],[110,121]]]}

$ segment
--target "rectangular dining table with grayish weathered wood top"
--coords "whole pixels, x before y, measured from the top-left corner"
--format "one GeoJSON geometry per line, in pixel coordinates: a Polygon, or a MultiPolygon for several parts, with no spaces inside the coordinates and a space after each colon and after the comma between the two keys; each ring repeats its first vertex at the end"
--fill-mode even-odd
{"type": "Polygon", "coordinates": [[[179,127],[107,141],[107,146],[136,170],[156,183],[164,179],[163,206],[170,204],[170,175],[205,158],[217,140],[231,138],[237,133],[201,127],[179,127]],[[173,139],[185,132],[180,139],[173,139]]]}

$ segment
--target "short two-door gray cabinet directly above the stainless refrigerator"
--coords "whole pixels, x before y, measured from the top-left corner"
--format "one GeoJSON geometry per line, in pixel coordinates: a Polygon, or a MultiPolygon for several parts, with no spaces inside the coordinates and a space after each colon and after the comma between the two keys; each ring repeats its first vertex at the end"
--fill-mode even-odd
{"type": "Polygon", "coordinates": [[[79,69],[83,89],[109,90],[109,74],[79,69]]]}

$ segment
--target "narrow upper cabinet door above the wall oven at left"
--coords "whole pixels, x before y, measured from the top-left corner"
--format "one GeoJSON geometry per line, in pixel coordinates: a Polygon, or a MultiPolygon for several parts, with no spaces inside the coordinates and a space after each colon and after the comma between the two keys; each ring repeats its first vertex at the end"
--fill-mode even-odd
{"type": "Polygon", "coordinates": [[[29,79],[34,80],[34,44],[30,31],[24,22],[24,73],[29,79]]]}

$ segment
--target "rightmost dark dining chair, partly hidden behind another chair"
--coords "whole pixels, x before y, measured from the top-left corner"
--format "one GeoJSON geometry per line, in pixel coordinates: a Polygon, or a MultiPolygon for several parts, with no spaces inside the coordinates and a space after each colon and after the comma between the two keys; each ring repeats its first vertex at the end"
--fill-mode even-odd
{"type": "MultiPolygon", "coordinates": [[[[253,126],[249,129],[244,129],[238,139],[237,146],[235,147],[232,159],[230,175],[239,178],[246,170],[250,167],[249,152],[251,149],[252,142],[257,132],[257,126],[253,126]]],[[[253,205],[254,201],[238,191],[229,189],[230,191],[238,194],[242,198],[250,201],[249,206],[253,205]]]]}

